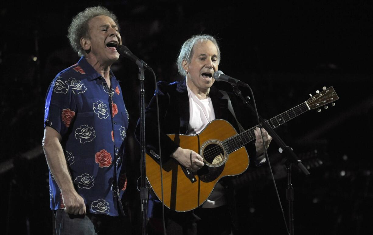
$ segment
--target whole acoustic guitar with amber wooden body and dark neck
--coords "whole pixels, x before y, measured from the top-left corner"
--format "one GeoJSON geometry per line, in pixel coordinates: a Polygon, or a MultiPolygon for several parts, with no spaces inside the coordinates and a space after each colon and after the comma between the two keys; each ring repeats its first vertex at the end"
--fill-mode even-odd
{"type": "MultiPolygon", "coordinates": [[[[339,99],[333,87],[324,87],[323,91],[317,93],[304,103],[271,118],[269,123],[272,128],[308,110],[318,109],[320,112],[319,107],[339,99]]],[[[216,119],[197,135],[169,134],[181,148],[198,152],[205,165],[193,174],[173,158],[163,162],[162,198],[159,162],[156,154],[146,154],[146,176],[150,187],[164,201],[164,205],[172,210],[185,212],[197,208],[209,198],[218,180],[225,176],[236,176],[248,168],[250,160],[244,145],[255,139],[256,127],[238,134],[230,123],[216,119]]]]}

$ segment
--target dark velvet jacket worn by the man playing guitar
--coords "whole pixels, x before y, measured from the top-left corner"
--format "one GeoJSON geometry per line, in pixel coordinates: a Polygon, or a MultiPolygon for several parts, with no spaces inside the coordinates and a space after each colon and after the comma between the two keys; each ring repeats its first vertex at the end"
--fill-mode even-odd
{"type": "MultiPolygon", "coordinates": [[[[189,97],[188,90],[186,87],[185,80],[181,82],[166,83],[160,81],[157,84],[158,90],[158,101],[159,101],[159,118],[160,118],[160,130],[161,130],[161,150],[162,150],[162,161],[167,161],[170,155],[179,147],[178,144],[173,142],[166,134],[186,134],[188,132],[189,125],[189,97]]],[[[240,119],[240,113],[237,102],[232,93],[228,93],[235,115],[238,120],[240,119]]],[[[232,113],[228,109],[228,100],[223,99],[223,94],[214,86],[210,88],[209,96],[213,103],[214,113],[216,119],[224,119],[231,123],[236,130],[238,125],[232,113]]],[[[241,124],[245,124],[242,123],[241,124]]],[[[244,125],[245,126],[245,125],[244,125]]],[[[137,128],[135,131],[136,138],[140,140],[140,120],[138,120],[137,128]]],[[[158,130],[157,130],[157,108],[156,108],[156,96],[154,95],[151,99],[148,107],[145,109],[145,142],[147,153],[153,150],[156,154],[159,154],[158,149],[158,130]]],[[[250,145],[249,145],[250,146],[250,145]]],[[[248,153],[255,154],[255,148],[248,149],[248,153]]],[[[255,156],[255,155],[254,155],[255,156]]],[[[223,184],[226,188],[226,196],[228,198],[229,208],[231,211],[231,218],[233,225],[236,225],[236,213],[235,213],[235,200],[234,190],[232,183],[229,180],[230,177],[224,177],[223,184]]],[[[162,208],[159,206],[152,206],[154,198],[150,200],[153,202],[149,203],[150,215],[154,214],[156,208],[162,208]]],[[[156,212],[155,212],[156,213],[156,212]]]]}

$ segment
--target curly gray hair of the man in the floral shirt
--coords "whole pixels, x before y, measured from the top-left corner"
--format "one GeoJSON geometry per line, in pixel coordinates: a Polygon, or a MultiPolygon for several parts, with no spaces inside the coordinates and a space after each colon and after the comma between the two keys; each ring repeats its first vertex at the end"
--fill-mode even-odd
{"type": "Polygon", "coordinates": [[[69,26],[69,33],[68,38],[70,41],[70,45],[74,51],[78,52],[79,56],[84,55],[83,48],[80,45],[80,39],[84,36],[88,35],[88,22],[96,16],[109,16],[114,20],[116,25],[119,28],[117,17],[114,15],[113,12],[110,12],[105,7],[102,6],[96,6],[96,7],[88,7],[84,11],[79,12],[78,15],[76,15],[69,26]]]}

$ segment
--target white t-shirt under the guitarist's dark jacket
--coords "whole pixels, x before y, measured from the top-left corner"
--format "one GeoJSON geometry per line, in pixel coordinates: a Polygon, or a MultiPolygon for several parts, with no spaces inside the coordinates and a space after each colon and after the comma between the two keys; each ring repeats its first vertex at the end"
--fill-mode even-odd
{"type": "MultiPolygon", "coordinates": [[[[189,125],[188,135],[199,134],[206,126],[215,119],[214,107],[211,98],[204,100],[198,97],[190,90],[188,83],[186,84],[189,96],[189,125]]],[[[224,187],[218,182],[212,191],[209,199],[203,203],[202,207],[213,208],[226,204],[224,195],[224,187]]]]}

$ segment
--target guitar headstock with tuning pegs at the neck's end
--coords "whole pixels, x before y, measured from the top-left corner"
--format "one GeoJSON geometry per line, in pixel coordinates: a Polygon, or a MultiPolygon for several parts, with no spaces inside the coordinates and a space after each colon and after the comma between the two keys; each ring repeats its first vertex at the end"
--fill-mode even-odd
{"type": "MultiPolygon", "coordinates": [[[[332,106],[334,106],[335,103],[333,102],[339,99],[333,87],[323,87],[323,91],[316,91],[316,93],[317,94],[314,96],[310,94],[311,98],[306,101],[310,109],[317,109],[329,103],[332,103],[332,106]]],[[[325,106],[324,108],[327,109],[328,106],[325,106]]],[[[318,109],[317,112],[321,112],[321,109],[318,109]]]]}

